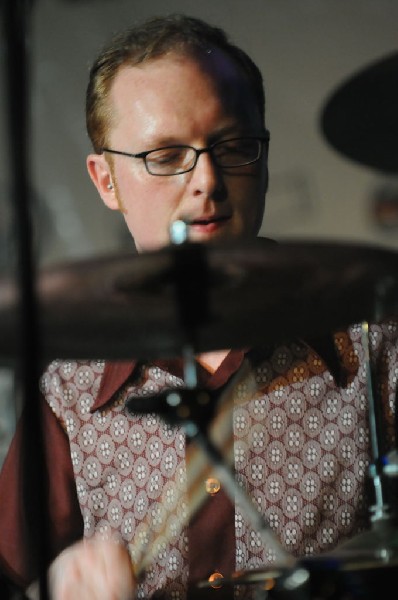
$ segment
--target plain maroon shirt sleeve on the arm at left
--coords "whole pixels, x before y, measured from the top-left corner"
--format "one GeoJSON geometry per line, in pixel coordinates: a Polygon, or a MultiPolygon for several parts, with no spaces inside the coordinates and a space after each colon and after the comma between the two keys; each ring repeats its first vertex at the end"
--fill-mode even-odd
{"type": "MultiPolygon", "coordinates": [[[[76,483],[70,457],[69,442],[56,416],[44,398],[40,398],[38,408],[41,416],[43,441],[43,465],[45,470],[43,506],[40,507],[40,528],[38,534],[45,539],[43,560],[34,556],[35,540],[32,539],[32,504],[30,494],[35,494],[32,481],[26,489],[22,477],[26,479],[26,466],[30,458],[24,456],[23,437],[26,432],[26,416],[22,413],[15,436],[0,474],[0,568],[4,574],[21,587],[26,587],[38,576],[38,564],[48,565],[67,546],[83,535],[83,519],[77,498],[76,483]],[[24,422],[25,421],[25,422],[24,422]],[[29,535],[28,535],[29,533],[29,535]],[[33,548],[33,550],[32,550],[33,548]]],[[[33,515],[33,519],[37,515],[33,515]]],[[[35,523],[33,523],[33,529],[35,523]]]]}

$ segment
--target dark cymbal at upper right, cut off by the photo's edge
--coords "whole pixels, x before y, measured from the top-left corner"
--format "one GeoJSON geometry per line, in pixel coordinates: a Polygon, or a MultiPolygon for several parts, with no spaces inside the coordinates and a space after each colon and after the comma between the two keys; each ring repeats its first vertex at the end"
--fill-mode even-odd
{"type": "Polygon", "coordinates": [[[326,100],[321,130],[339,152],[385,173],[398,172],[398,52],[345,80],[326,100]]]}

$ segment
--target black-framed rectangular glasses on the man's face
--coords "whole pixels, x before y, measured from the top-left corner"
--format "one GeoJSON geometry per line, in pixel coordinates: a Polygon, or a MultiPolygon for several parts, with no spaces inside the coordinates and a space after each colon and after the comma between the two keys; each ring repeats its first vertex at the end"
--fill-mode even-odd
{"type": "Polygon", "coordinates": [[[257,162],[263,153],[264,145],[269,142],[269,132],[257,137],[239,137],[222,140],[206,148],[173,145],[154,148],[146,152],[132,154],[111,148],[102,148],[102,152],[121,154],[130,158],[141,158],[151,175],[168,176],[188,173],[195,168],[201,154],[208,152],[214,163],[222,169],[244,167],[257,162]]]}

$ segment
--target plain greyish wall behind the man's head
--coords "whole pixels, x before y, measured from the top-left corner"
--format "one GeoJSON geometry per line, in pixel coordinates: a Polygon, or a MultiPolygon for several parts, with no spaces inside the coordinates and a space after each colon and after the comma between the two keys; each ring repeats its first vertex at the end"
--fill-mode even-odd
{"type": "Polygon", "coordinates": [[[42,205],[43,261],[130,244],[120,217],[102,207],[86,175],[87,72],[115,30],[149,15],[182,11],[224,27],[263,71],[272,141],[262,233],[398,246],[397,230],[378,230],[369,215],[373,190],[386,178],[338,154],[318,128],[327,96],[358,69],[397,49],[396,0],[37,0],[33,5],[32,185],[42,205]]]}

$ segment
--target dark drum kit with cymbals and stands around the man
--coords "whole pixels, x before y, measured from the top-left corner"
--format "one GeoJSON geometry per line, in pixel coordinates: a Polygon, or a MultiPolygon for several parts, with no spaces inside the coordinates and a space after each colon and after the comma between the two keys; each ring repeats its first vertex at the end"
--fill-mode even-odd
{"type": "MultiPolygon", "coordinates": [[[[397,106],[398,53],[345,82],[323,110],[322,129],[347,157],[397,173],[397,106]]],[[[182,355],[190,373],[189,394],[166,395],[157,410],[183,425],[213,464],[223,468],[223,457],[196,420],[195,353],[328,333],[354,322],[364,324],[366,347],[366,324],[398,315],[398,253],[349,243],[257,239],[203,246],[182,241],[142,255],[47,268],[37,275],[34,300],[40,360],[182,355]]],[[[20,358],[22,336],[15,333],[26,318],[25,308],[24,289],[15,281],[1,281],[3,364],[20,358]]],[[[257,598],[357,600],[374,598],[380,582],[394,571],[398,530],[385,506],[382,480],[386,473],[398,475],[398,460],[394,453],[379,455],[370,368],[368,376],[369,474],[376,498],[370,531],[318,557],[295,560],[281,550],[274,567],[235,573],[221,585],[251,586],[257,598]]],[[[228,468],[223,476],[231,493],[237,493],[228,468]]],[[[256,524],[267,541],[277,544],[267,523],[256,524]]],[[[210,585],[204,581],[199,588],[210,585]]]]}

